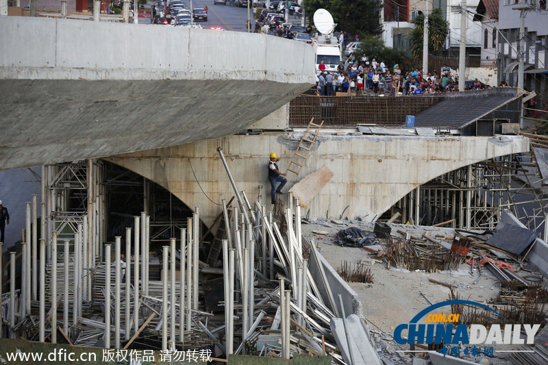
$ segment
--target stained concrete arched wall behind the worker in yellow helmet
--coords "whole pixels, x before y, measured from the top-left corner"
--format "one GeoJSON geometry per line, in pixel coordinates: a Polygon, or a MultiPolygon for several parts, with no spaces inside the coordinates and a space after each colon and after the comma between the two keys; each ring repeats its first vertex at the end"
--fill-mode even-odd
{"type": "MultiPolygon", "coordinates": [[[[255,136],[234,135],[201,140],[176,147],[151,149],[117,155],[107,160],[151,179],[175,194],[190,207],[200,206],[201,217],[209,225],[219,214],[221,202],[234,194],[221,164],[217,147],[223,147],[229,168],[239,190],[255,200],[262,184],[269,203],[267,179],[269,153],[280,158],[286,170],[301,134],[273,132],[255,136]],[[194,168],[196,179],[190,168],[194,168]]],[[[475,162],[529,150],[523,136],[427,137],[427,136],[332,136],[321,134],[299,179],[325,164],[334,177],[312,199],[303,215],[337,217],[340,214],[371,221],[410,190],[427,181],[475,162]],[[346,208],[346,210],[345,210],[346,208]]],[[[288,174],[284,192],[295,175],[288,174]]],[[[271,207],[269,207],[271,209],[271,207]]]]}

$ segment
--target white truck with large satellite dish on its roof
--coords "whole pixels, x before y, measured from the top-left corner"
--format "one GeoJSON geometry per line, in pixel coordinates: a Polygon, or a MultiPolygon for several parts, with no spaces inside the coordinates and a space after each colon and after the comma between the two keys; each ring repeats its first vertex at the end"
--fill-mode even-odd
{"type": "Polygon", "coordinates": [[[336,71],[339,65],[340,48],[338,40],[333,36],[335,23],[333,17],[325,9],[318,9],[314,12],[314,25],[318,29],[319,36],[312,39],[316,56],[316,71],[319,70],[319,64],[323,61],[325,71],[336,71]]]}

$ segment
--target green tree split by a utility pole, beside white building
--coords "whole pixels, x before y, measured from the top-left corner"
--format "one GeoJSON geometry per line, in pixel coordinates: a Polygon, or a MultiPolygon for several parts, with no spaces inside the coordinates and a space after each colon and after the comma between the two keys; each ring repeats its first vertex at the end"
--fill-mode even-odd
{"type": "MultiPolygon", "coordinates": [[[[422,58],[423,55],[423,30],[424,15],[419,14],[413,21],[415,24],[411,32],[411,54],[414,58],[422,58]]],[[[445,21],[441,9],[434,9],[428,16],[428,52],[436,54],[445,44],[445,38],[449,34],[449,22],[445,21]]]]}

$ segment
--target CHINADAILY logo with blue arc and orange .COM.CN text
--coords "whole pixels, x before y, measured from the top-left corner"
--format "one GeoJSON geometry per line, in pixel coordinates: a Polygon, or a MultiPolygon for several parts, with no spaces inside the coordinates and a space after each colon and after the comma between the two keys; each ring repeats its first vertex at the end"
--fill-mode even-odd
{"type": "MultiPolygon", "coordinates": [[[[466,325],[459,325],[458,314],[430,313],[447,305],[472,305],[482,307],[484,310],[495,313],[504,319],[493,308],[475,301],[443,301],[430,305],[425,310],[416,314],[408,324],[401,324],[394,330],[394,340],[398,344],[533,344],[536,332],[540,325],[484,325],[471,324],[470,332],[466,325]],[[440,323],[443,322],[443,323],[440,323]],[[437,323],[437,324],[436,324],[437,323]],[[525,332],[522,336],[521,331],[525,332]],[[407,331],[407,338],[403,335],[407,331]]],[[[441,351],[440,351],[441,352],[441,351]]],[[[451,351],[452,352],[452,351],[451,351]]]]}

